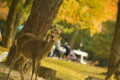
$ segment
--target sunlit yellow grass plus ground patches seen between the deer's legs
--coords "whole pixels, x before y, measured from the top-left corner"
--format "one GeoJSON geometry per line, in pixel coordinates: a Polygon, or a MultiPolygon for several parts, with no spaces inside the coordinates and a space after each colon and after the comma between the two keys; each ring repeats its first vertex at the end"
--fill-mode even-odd
{"type": "MultiPolygon", "coordinates": [[[[91,65],[83,65],[76,62],[45,58],[42,61],[42,66],[54,69],[57,71],[56,77],[63,80],[85,80],[88,76],[104,79],[106,68],[95,67],[91,65]]],[[[0,64],[0,80],[5,80],[8,74],[8,67],[0,64]]],[[[31,72],[25,74],[25,80],[30,80],[31,72]]],[[[12,71],[11,80],[21,80],[18,71],[12,71]]]]}

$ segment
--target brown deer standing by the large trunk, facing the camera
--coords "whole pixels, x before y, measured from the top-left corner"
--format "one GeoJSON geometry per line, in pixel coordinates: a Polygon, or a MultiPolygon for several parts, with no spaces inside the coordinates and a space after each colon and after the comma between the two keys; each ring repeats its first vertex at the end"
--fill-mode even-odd
{"type": "Polygon", "coordinates": [[[45,58],[47,54],[51,51],[53,45],[57,41],[61,32],[62,29],[53,28],[51,30],[51,35],[49,40],[44,40],[30,33],[25,33],[24,35],[21,35],[17,39],[16,54],[10,65],[7,79],[9,78],[11,69],[13,68],[15,62],[20,58],[20,56],[22,56],[23,60],[19,64],[19,71],[22,80],[24,80],[23,68],[24,65],[27,63],[28,59],[32,59],[32,63],[33,63],[31,80],[34,72],[36,73],[35,80],[37,80],[38,68],[40,66],[40,63],[43,60],[43,58],[45,58]]]}

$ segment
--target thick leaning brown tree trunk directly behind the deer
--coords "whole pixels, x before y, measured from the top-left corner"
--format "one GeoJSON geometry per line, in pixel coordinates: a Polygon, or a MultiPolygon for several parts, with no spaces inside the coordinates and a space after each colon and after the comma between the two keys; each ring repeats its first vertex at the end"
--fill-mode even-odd
{"type": "MultiPolygon", "coordinates": [[[[31,14],[21,34],[32,33],[45,38],[63,0],[34,0],[31,14]]],[[[15,46],[10,49],[6,63],[10,64],[15,54],[15,46]],[[12,51],[11,51],[12,50],[12,51]]]]}

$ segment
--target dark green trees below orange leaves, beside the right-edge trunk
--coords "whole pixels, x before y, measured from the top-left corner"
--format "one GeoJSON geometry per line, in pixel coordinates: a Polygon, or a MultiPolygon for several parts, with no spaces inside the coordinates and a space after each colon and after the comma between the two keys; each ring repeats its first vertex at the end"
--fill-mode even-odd
{"type": "Polygon", "coordinates": [[[89,53],[89,60],[98,61],[99,66],[107,66],[114,35],[114,21],[106,21],[102,23],[102,32],[89,36],[85,34],[83,38],[83,50],[89,53]]]}

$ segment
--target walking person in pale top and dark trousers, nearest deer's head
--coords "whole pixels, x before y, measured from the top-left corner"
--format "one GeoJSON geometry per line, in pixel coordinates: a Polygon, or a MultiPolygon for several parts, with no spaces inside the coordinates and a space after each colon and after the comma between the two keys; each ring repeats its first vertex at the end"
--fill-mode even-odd
{"type": "Polygon", "coordinates": [[[60,46],[61,46],[61,37],[59,37],[59,39],[56,41],[55,43],[55,50],[53,51],[53,55],[52,57],[57,54],[58,58],[61,58],[61,52],[60,52],[60,46]]]}

